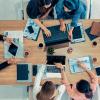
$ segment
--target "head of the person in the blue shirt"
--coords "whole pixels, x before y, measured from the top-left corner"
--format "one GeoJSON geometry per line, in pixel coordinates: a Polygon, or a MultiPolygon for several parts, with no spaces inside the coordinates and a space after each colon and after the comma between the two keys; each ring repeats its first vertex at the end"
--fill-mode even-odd
{"type": "Polygon", "coordinates": [[[64,0],[64,10],[70,12],[76,9],[76,3],[74,0],[64,0]]]}

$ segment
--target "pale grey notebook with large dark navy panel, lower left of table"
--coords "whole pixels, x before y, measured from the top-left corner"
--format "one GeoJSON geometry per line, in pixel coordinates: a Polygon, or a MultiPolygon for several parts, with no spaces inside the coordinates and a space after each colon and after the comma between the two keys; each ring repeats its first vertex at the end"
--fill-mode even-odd
{"type": "Polygon", "coordinates": [[[17,82],[32,82],[32,64],[17,64],[17,82]]]}

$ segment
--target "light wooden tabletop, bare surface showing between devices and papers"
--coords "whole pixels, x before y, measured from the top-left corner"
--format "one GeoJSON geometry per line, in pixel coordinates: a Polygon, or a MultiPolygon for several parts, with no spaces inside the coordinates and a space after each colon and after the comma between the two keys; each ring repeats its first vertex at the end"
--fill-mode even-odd
{"type": "MultiPolygon", "coordinates": [[[[80,20],[80,22],[83,23],[84,29],[90,27],[93,21],[100,22],[100,20],[80,20]]],[[[69,23],[69,22],[70,20],[66,21],[66,23],[69,23]]],[[[59,24],[58,20],[47,20],[47,21],[45,20],[44,21],[44,25],[46,26],[53,26],[53,25],[58,25],[58,24],[59,24]]],[[[9,31],[23,30],[25,25],[26,25],[26,21],[0,21],[0,34],[8,30],[9,31]]],[[[71,54],[67,53],[68,47],[55,50],[55,54],[66,55],[67,60],[68,58],[75,58],[75,57],[82,57],[82,56],[90,55],[92,57],[97,58],[97,62],[95,63],[95,66],[100,66],[100,38],[97,38],[95,40],[98,42],[98,45],[96,47],[93,47],[92,42],[89,40],[86,34],[85,34],[85,37],[86,37],[86,42],[70,45],[73,48],[73,52],[71,54]]],[[[44,51],[44,49],[38,48],[39,43],[44,43],[42,32],[40,32],[39,38],[37,41],[24,39],[24,48],[26,51],[29,51],[29,56],[24,59],[18,59],[18,61],[28,62],[32,64],[42,64],[42,63],[45,64],[46,52],[44,51]]],[[[4,54],[3,53],[3,43],[0,43],[0,62],[5,60],[3,54],[4,54]]],[[[68,63],[66,63],[66,66],[67,66],[66,74],[69,78],[70,83],[75,83],[80,79],[88,80],[88,76],[85,72],[71,74],[68,63]]],[[[43,80],[42,82],[44,81],[45,80],[43,80]]],[[[60,83],[60,79],[52,79],[52,81],[55,83],[60,83]]],[[[34,77],[33,77],[33,82],[34,82],[34,77]]],[[[4,84],[5,85],[21,85],[21,84],[22,85],[32,85],[33,82],[31,83],[16,82],[16,65],[9,66],[8,68],[0,71],[0,85],[4,85],[4,84]]],[[[100,83],[100,79],[99,79],[99,83],[100,83]]]]}

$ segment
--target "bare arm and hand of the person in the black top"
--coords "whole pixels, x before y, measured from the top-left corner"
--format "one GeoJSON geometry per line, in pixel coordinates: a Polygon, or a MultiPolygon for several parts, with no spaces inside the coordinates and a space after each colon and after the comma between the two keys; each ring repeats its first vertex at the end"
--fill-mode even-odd
{"type": "Polygon", "coordinates": [[[51,36],[51,32],[41,23],[39,19],[33,19],[34,22],[45,32],[46,36],[51,36]]]}

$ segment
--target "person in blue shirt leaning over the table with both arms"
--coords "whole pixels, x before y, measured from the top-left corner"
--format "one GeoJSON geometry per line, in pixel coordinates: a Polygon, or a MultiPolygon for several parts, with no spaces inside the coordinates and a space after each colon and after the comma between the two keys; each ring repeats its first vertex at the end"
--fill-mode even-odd
{"type": "Polygon", "coordinates": [[[86,17],[86,0],[59,0],[56,4],[57,19],[60,22],[60,30],[65,31],[66,25],[64,19],[72,19],[71,29],[69,30],[69,37],[72,38],[74,27],[77,26],[79,19],[86,17]]]}

